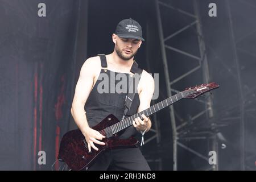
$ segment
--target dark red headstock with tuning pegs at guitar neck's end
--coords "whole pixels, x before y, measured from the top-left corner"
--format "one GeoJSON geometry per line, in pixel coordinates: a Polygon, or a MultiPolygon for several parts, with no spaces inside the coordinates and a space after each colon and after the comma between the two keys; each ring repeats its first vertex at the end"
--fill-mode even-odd
{"type": "Polygon", "coordinates": [[[210,90],[217,89],[220,85],[215,82],[211,82],[209,84],[202,84],[198,86],[193,86],[185,89],[183,91],[184,98],[196,98],[205,92],[209,92],[210,90]]]}

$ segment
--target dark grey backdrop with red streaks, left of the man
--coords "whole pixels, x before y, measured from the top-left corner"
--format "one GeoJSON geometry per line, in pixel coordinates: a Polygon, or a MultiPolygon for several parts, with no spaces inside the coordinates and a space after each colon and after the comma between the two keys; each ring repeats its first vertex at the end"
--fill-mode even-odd
{"type": "Polygon", "coordinates": [[[0,2],[0,169],[50,169],[71,117],[80,1],[43,1],[44,18],[40,2],[0,2]]]}

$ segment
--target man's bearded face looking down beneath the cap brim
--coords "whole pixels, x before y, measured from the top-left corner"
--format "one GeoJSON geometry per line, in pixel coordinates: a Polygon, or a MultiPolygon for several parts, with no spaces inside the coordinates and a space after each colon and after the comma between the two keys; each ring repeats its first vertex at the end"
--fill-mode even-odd
{"type": "Polygon", "coordinates": [[[115,35],[115,52],[122,60],[130,60],[137,53],[141,43],[141,40],[119,38],[115,35]]]}

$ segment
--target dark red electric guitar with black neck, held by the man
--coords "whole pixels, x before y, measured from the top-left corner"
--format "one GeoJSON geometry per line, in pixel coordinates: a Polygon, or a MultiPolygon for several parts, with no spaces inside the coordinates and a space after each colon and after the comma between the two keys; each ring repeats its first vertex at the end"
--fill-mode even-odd
{"type": "Polygon", "coordinates": [[[90,166],[92,166],[94,160],[96,160],[97,157],[105,150],[139,146],[138,140],[134,137],[130,137],[129,139],[118,138],[124,129],[133,125],[133,120],[135,118],[140,117],[143,120],[141,116],[142,114],[148,117],[183,98],[196,98],[201,94],[209,92],[209,90],[216,89],[218,87],[219,85],[212,82],[210,84],[202,84],[187,88],[183,92],[179,92],[166,100],[158,102],[158,104],[155,104],[146,110],[123,119],[122,121],[119,121],[113,114],[108,115],[105,119],[98,123],[98,125],[92,127],[92,129],[99,131],[106,137],[101,140],[101,142],[105,143],[104,146],[96,144],[98,151],[92,148],[92,150],[88,152],[87,142],[79,129],[69,131],[61,139],[58,159],[67,163],[72,170],[87,170],[90,166]]]}

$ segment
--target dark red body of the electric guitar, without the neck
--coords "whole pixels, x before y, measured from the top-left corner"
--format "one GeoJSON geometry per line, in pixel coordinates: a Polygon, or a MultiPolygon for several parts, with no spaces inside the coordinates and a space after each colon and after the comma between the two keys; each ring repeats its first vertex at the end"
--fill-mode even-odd
{"type": "MultiPolygon", "coordinates": [[[[117,122],[119,122],[119,120],[113,114],[110,114],[98,123],[98,125],[92,127],[92,129],[102,131],[117,122]]],[[[92,150],[89,153],[87,142],[81,131],[78,129],[69,131],[61,139],[58,158],[64,160],[72,170],[82,170],[92,166],[97,157],[106,150],[139,146],[138,140],[133,137],[130,137],[129,139],[119,139],[118,137],[121,134],[120,131],[113,136],[107,136],[101,140],[101,142],[105,143],[104,146],[95,144],[98,151],[91,148],[92,150]]]]}

